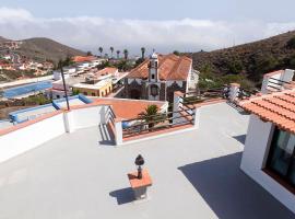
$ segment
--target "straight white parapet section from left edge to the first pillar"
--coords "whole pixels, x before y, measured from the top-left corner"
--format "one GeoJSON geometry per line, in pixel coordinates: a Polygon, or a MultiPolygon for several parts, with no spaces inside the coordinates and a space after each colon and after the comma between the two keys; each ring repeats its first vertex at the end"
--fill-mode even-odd
{"type": "Polygon", "coordinates": [[[40,146],[64,134],[62,114],[0,136],[0,162],[40,146]]]}

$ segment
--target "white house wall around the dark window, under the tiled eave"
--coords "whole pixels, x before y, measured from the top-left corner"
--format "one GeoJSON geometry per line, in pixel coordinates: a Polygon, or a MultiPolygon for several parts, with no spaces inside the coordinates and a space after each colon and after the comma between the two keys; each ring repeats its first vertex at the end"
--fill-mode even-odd
{"type": "Polygon", "coordinates": [[[262,171],[269,153],[273,125],[251,115],[240,169],[295,214],[295,195],[262,171]]]}

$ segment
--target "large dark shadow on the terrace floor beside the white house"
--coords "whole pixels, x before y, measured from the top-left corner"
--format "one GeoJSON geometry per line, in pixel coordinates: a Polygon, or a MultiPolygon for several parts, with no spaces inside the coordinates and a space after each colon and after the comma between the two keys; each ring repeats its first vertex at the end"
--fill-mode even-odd
{"type": "Polygon", "coordinates": [[[294,215],[241,172],[241,153],[184,165],[179,170],[220,219],[294,219],[294,215]]]}

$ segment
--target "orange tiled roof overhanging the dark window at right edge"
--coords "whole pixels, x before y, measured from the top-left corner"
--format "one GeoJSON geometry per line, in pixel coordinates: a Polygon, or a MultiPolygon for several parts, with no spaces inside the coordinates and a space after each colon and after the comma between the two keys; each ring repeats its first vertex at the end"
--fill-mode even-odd
{"type": "Polygon", "coordinates": [[[295,89],[240,102],[247,112],[295,134],[295,89]]]}

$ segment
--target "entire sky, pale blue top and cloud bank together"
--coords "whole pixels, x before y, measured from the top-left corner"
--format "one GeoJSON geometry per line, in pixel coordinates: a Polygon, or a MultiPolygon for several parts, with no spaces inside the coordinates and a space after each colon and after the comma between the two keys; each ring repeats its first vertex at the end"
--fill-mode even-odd
{"type": "Polygon", "coordinates": [[[293,0],[0,0],[0,35],[84,50],[212,50],[295,30],[293,0]]]}

